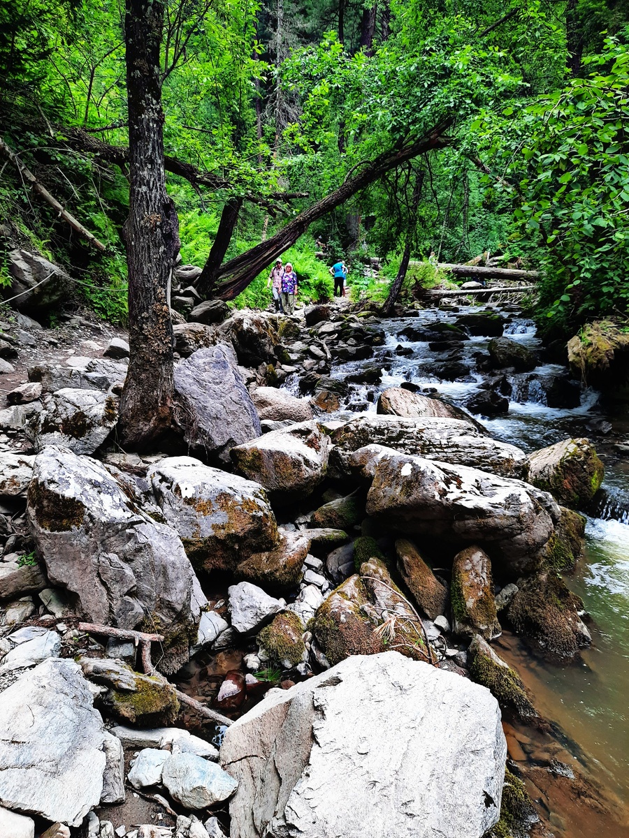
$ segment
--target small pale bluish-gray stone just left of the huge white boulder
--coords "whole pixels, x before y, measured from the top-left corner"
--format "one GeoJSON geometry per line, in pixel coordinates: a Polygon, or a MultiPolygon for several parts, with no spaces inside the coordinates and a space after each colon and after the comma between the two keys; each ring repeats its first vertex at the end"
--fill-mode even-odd
{"type": "Polygon", "coordinates": [[[178,803],[192,810],[221,803],[238,787],[226,771],[193,753],[171,757],[164,765],[162,782],[178,803]]]}

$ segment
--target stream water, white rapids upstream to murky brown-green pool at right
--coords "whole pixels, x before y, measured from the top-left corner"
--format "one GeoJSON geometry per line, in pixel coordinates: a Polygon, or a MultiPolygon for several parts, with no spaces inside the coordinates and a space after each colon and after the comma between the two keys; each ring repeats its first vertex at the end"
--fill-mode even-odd
{"type": "MultiPolygon", "coordinates": [[[[428,367],[435,361],[446,360],[444,353],[433,352],[425,341],[399,337],[405,327],[422,327],[437,321],[454,323],[460,313],[478,312],[482,308],[459,308],[450,311],[428,310],[417,317],[392,318],[378,321],[377,326],[387,335],[382,349],[374,350],[369,360],[352,361],[335,366],[332,376],[346,379],[374,363],[382,365],[379,385],[351,385],[346,405],[338,411],[338,418],[356,415],[356,411],[375,411],[377,393],[404,381],[422,389],[434,388],[459,406],[479,390],[483,376],[476,373],[475,354],[485,352],[488,338],[472,338],[460,346],[459,355],[469,365],[470,375],[463,380],[443,381],[431,375],[428,367]],[[399,349],[399,347],[402,349],[399,349]],[[400,353],[405,353],[403,356],[400,353]]],[[[505,335],[540,351],[542,344],[535,334],[532,321],[507,313],[511,318],[505,335]]],[[[600,422],[610,422],[613,435],[629,432],[626,414],[610,416],[599,404],[593,390],[580,394],[580,405],[551,408],[547,404],[548,384],[566,369],[561,365],[544,363],[533,373],[510,375],[512,395],[507,416],[481,419],[492,436],[512,442],[527,452],[559,442],[566,437],[593,437],[592,428],[600,429],[600,422]],[[591,423],[594,422],[594,426],[591,423]]],[[[481,418],[481,417],[479,417],[481,418]]],[[[574,574],[566,576],[569,587],[583,598],[590,613],[591,649],[583,654],[579,664],[565,668],[534,660],[515,638],[506,647],[507,658],[517,665],[522,677],[533,691],[539,710],[559,726],[560,736],[568,753],[576,759],[590,779],[599,784],[606,794],[629,803],[629,727],[627,700],[629,698],[629,461],[619,459],[605,437],[600,437],[602,456],[606,462],[603,489],[592,504],[586,529],[585,560],[574,574]]],[[[621,815],[624,820],[624,815],[621,815]]],[[[627,821],[629,822],[629,821],[627,821]]],[[[617,825],[600,818],[595,825],[574,824],[561,829],[558,835],[616,836],[629,835],[629,829],[618,831],[617,825]]]]}

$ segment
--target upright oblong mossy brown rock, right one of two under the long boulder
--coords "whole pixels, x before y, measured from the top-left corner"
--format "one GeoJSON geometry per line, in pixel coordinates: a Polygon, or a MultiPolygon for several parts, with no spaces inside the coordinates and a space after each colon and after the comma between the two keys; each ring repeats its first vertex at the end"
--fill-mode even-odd
{"type": "Polygon", "coordinates": [[[493,640],[502,634],[496,614],[491,561],[480,547],[467,547],[455,556],[450,585],[455,634],[480,634],[493,640]]]}

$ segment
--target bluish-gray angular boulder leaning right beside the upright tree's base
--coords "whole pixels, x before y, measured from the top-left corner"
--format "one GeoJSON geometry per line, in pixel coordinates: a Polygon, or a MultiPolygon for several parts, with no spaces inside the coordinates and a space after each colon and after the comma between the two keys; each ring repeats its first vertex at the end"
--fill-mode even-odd
{"type": "Polygon", "coordinates": [[[193,449],[227,463],[231,447],[262,433],[231,349],[197,349],[176,366],[174,385],[191,411],[185,441],[193,449]]]}

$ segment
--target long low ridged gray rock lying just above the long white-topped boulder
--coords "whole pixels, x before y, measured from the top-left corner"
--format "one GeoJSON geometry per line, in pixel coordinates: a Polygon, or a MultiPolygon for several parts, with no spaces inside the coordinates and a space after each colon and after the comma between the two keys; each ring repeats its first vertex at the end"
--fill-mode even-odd
{"type": "Polygon", "coordinates": [[[356,416],[332,432],[333,461],[346,472],[351,453],[370,444],[418,454],[453,465],[482,468],[502,477],[525,479],[528,457],[521,448],[487,437],[476,423],[443,416],[405,418],[373,413],[356,416]]]}

